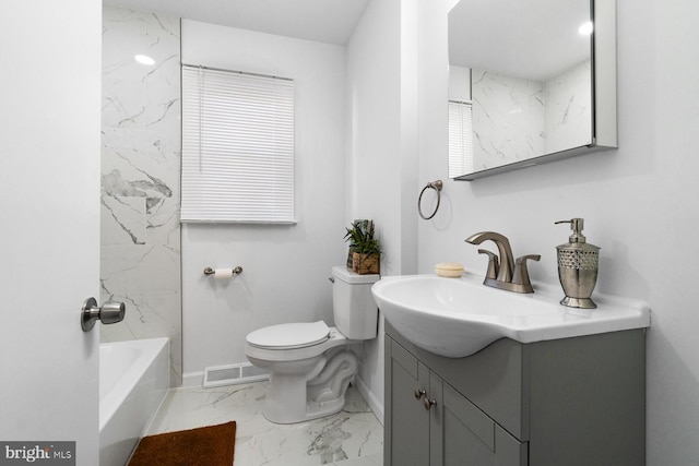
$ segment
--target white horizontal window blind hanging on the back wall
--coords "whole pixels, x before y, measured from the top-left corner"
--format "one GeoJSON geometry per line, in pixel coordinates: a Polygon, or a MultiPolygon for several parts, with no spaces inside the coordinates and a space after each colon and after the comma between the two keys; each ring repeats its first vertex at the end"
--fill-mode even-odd
{"type": "Polygon", "coordinates": [[[294,82],[182,65],[182,222],[294,223],[294,82]]]}

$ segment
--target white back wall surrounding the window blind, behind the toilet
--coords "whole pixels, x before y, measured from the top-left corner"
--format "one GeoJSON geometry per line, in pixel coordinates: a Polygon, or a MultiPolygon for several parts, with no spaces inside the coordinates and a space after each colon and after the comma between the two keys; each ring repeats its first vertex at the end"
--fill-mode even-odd
{"type": "Polygon", "coordinates": [[[246,362],[259,327],[332,324],[331,267],[344,264],[345,48],[182,21],[182,62],[293,77],[296,86],[297,225],[182,227],[183,371],[246,362]],[[203,268],[240,265],[226,282],[203,268]]]}

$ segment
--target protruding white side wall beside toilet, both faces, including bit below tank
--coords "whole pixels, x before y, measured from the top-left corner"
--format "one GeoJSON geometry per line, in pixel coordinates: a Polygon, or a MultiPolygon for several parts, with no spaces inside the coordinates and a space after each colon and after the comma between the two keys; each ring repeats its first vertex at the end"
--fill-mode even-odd
{"type": "MultiPolygon", "coordinates": [[[[381,275],[413,273],[417,264],[415,17],[412,1],[372,0],[347,46],[347,218],[374,219],[383,249],[381,275]]],[[[382,418],[380,321],[378,338],[364,344],[358,383],[382,418]]]]}

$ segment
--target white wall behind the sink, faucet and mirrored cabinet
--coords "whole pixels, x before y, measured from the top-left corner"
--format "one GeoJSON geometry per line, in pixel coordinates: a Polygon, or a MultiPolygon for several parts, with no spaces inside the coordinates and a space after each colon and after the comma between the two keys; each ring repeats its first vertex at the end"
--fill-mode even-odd
{"type": "MultiPolygon", "coordinates": [[[[447,0],[420,2],[420,178],[447,179],[447,0]]],[[[699,461],[699,3],[618,0],[619,148],[473,182],[446,182],[419,225],[419,271],[462,262],[485,272],[464,238],[491,229],[516,254],[540,253],[534,283],[557,284],[555,246],[585,218],[601,250],[597,290],[647,300],[648,464],[699,461]]]]}

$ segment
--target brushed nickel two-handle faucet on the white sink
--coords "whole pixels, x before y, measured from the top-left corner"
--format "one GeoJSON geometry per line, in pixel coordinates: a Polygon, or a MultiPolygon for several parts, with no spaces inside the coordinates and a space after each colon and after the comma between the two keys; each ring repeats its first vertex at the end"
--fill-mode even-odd
{"type": "Polygon", "coordinates": [[[486,240],[495,242],[498,247],[499,258],[490,251],[478,249],[479,254],[486,254],[488,256],[488,270],[483,284],[494,288],[507,289],[508,291],[534,292],[534,288],[529,279],[526,261],[529,259],[538,261],[541,255],[529,254],[514,260],[510,241],[505,236],[495,231],[477,232],[465,239],[466,242],[472,244],[481,244],[486,240]]]}

